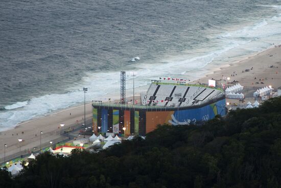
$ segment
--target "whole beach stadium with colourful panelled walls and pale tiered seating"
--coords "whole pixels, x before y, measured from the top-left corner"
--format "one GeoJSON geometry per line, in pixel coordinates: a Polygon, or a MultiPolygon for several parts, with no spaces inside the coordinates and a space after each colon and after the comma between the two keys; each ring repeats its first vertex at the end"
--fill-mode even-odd
{"type": "Polygon", "coordinates": [[[145,135],[157,125],[200,124],[226,113],[224,91],[203,85],[152,82],[139,103],[92,102],[93,131],[145,135]]]}

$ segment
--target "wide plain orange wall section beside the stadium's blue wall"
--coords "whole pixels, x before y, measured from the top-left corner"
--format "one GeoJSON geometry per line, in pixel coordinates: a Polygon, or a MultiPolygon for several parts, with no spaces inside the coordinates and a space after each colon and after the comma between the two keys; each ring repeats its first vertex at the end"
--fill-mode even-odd
{"type": "Polygon", "coordinates": [[[174,111],[146,112],[146,133],[153,131],[159,124],[171,125],[168,121],[171,120],[172,114],[174,114],[174,111]]]}

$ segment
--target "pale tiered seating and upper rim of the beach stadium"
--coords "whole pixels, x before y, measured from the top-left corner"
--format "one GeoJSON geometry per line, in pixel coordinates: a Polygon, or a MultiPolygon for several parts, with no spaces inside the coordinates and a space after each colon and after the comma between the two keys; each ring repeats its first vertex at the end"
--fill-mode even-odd
{"type": "Polygon", "coordinates": [[[140,94],[140,104],[110,104],[95,103],[93,107],[112,107],[114,109],[146,109],[149,111],[172,110],[176,108],[191,109],[198,106],[212,104],[225,99],[225,92],[221,88],[208,87],[205,85],[151,82],[146,93],[140,94]]]}

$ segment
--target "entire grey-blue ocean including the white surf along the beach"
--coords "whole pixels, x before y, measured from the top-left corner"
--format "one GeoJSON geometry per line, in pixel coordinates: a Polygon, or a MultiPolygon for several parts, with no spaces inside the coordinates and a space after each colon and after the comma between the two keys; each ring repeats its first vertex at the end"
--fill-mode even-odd
{"type": "MultiPolygon", "coordinates": [[[[281,1],[10,1],[0,4],[0,131],[151,80],[195,80],[281,43],[281,1]]],[[[109,97],[111,96],[111,97],[109,97]]]]}

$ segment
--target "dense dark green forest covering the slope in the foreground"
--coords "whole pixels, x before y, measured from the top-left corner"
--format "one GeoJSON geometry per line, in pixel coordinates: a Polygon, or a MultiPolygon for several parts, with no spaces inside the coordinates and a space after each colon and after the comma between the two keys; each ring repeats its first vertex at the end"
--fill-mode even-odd
{"type": "Polygon", "coordinates": [[[43,153],[0,187],[280,187],[281,98],[200,126],[161,125],[98,154],[43,153]]]}

